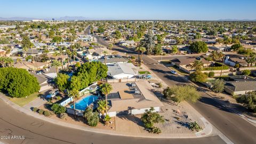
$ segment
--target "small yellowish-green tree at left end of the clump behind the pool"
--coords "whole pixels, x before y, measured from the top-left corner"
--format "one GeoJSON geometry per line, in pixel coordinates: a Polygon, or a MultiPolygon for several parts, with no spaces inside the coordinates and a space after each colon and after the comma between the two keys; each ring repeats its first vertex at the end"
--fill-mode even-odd
{"type": "Polygon", "coordinates": [[[68,89],[69,86],[69,76],[67,74],[59,73],[54,79],[55,83],[58,85],[60,91],[68,89]]]}

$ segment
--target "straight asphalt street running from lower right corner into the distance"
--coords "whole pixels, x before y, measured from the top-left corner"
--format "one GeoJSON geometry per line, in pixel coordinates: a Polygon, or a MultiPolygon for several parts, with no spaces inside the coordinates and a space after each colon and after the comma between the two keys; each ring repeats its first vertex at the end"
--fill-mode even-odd
{"type": "MultiPolygon", "coordinates": [[[[101,44],[106,43],[102,42],[101,44]]],[[[124,49],[123,47],[114,46],[113,50],[126,52],[138,57],[136,52],[124,49]]],[[[172,75],[170,69],[161,64],[157,64],[157,61],[153,58],[144,55],[143,61],[145,65],[153,70],[166,84],[174,85],[187,83],[182,76],[172,75]]],[[[256,143],[256,127],[220,105],[214,99],[209,97],[209,95],[202,92],[201,94],[201,100],[192,104],[192,106],[217,127],[218,130],[225,134],[228,139],[234,143],[256,143]]]]}

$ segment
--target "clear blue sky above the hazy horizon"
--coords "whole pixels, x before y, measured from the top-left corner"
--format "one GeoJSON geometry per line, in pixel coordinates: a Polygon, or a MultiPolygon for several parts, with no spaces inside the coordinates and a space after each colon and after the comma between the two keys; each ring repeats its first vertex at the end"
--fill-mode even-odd
{"type": "Polygon", "coordinates": [[[256,19],[255,0],[0,0],[0,3],[3,18],[256,19]]]}

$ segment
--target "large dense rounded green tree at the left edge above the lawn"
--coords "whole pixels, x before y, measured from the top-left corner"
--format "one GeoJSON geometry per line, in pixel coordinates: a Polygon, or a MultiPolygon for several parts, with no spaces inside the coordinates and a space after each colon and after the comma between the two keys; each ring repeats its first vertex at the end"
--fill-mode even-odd
{"type": "Polygon", "coordinates": [[[0,68],[0,90],[11,97],[23,98],[40,90],[37,78],[26,69],[0,68]]]}

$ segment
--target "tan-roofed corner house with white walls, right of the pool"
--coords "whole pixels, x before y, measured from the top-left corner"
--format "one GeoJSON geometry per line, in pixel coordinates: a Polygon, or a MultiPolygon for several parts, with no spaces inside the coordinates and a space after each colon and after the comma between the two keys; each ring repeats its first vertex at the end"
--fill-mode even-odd
{"type": "Polygon", "coordinates": [[[156,112],[161,111],[163,104],[147,81],[115,83],[112,86],[113,91],[108,94],[109,116],[143,114],[150,107],[154,107],[156,112]]]}

